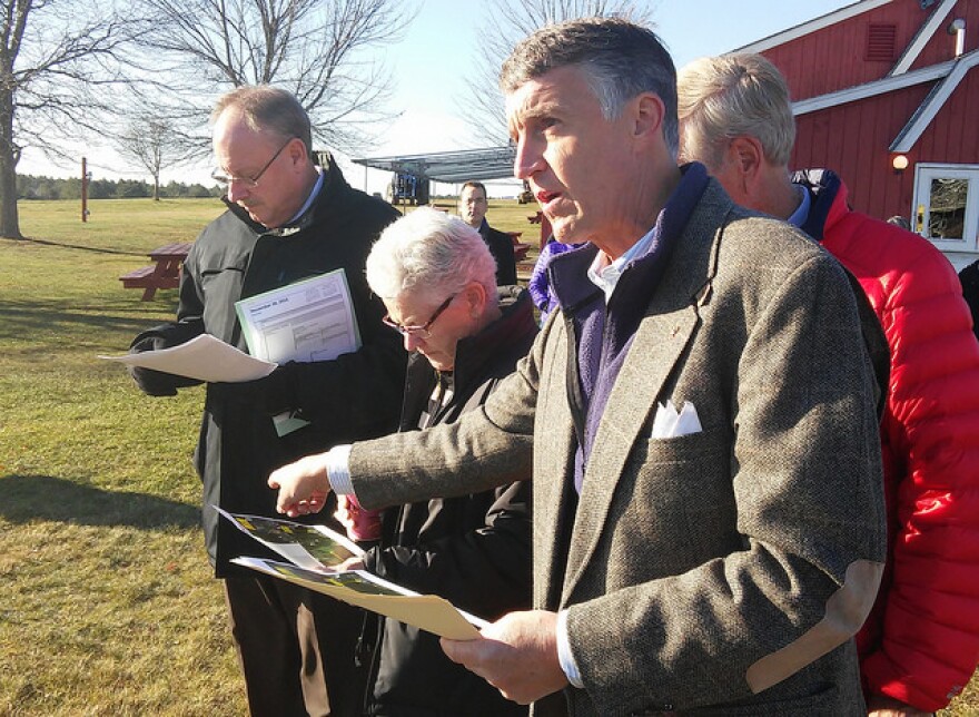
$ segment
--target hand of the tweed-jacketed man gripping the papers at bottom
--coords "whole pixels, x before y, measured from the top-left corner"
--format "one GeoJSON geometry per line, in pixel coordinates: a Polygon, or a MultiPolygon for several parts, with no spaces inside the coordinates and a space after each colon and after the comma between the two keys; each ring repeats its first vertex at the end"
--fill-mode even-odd
{"type": "Polygon", "coordinates": [[[448,658],[465,666],[515,703],[527,705],[567,685],[557,661],[557,613],[511,612],[477,640],[442,638],[448,658]]]}

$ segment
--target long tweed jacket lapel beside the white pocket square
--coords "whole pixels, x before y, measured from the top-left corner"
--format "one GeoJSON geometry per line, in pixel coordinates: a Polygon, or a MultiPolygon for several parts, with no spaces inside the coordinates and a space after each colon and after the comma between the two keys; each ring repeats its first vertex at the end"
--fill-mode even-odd
{"type": "Polygon", "coordinates": [[[710,298],[710,282],[724,216],[731,199],[711,180],[670,259],[670,265],[636,331],[615,380],[589,460],[562,590],[562,605],[602,540],[612,498],[625,475],[636,441],[647,440],[657,402],[700,323],[699,307],[710,298]]]}

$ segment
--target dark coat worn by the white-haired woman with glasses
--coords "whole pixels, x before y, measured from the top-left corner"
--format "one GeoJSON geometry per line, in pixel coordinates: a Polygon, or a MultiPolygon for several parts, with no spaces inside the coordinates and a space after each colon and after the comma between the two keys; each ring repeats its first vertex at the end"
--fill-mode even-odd
{"type": "MultiPolygon", "coordinates": [[[[454,394],[429,425],[452,423],[478,409],[512,373],[536,334],[530,295],[501,287],[503,316],[456,348],[454,394]],[[505,298],[504,298],[505,297],[505,298]]],[[[402,430],[418,428],[437,381],[421,354],[408,362],[402,430]]],[[[495,619],[531,605],[530,484],[389,509],[380,549],[367,566],[384,578],[495,619]]],[[[368,618],[379,630],[370,660],[366,714],[397,717],[526,715],[483,678],[449,660],[429,632],[396,620],[368,618]]]]}

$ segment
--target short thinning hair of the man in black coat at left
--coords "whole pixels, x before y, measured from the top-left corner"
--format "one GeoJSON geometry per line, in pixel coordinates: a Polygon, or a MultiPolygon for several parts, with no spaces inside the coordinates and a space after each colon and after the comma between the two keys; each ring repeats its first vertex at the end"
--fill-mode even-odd
{"type": "Polygon", "coordinates": [[[227,108],[241,111],[245,122],[254,131],[270,132],[289,139],[298,137],[313,157],[313,130],[309,115],[296,97],[270,85],[246,85],[222,95],[210,112],[210,121],[217,121],[227,108]]]}

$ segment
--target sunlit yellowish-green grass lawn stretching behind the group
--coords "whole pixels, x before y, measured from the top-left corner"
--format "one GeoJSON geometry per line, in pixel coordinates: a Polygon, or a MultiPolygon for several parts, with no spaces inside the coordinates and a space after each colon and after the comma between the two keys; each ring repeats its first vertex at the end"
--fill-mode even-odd
{"type": "MultiPolygon", "coordinates": [[[[202,393],[150,399],[96,358],[176,307],[119,275],[221,208],[95,200],[81,223],[78,203],[24,202],[29,240],[0,239],[0,715],[246,713],[198,528],[202,393]]],[[[534,212],[488,217],[536,248],[534,212]]],[[[976,686],[942,714],[979,714],[976,686]]]]}

